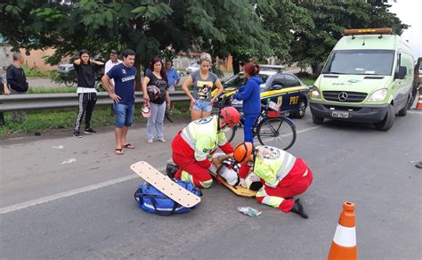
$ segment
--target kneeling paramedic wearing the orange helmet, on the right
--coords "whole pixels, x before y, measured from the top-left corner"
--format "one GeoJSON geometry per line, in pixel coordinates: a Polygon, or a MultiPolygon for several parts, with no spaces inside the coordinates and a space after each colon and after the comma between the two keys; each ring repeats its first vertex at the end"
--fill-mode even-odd
{"type": "Polygon", "coordinates": [[[312,183],[312,171],[303,159],[271,146],[257,146],[255,149],[251,142],[239,143],[233,157],[242,163],[240,178],[248,175],[250,167],[261,178],[264,186],[256,193],[259,203],[308,218],[299,199],[293,199],[304,193],[312,183]]]}

